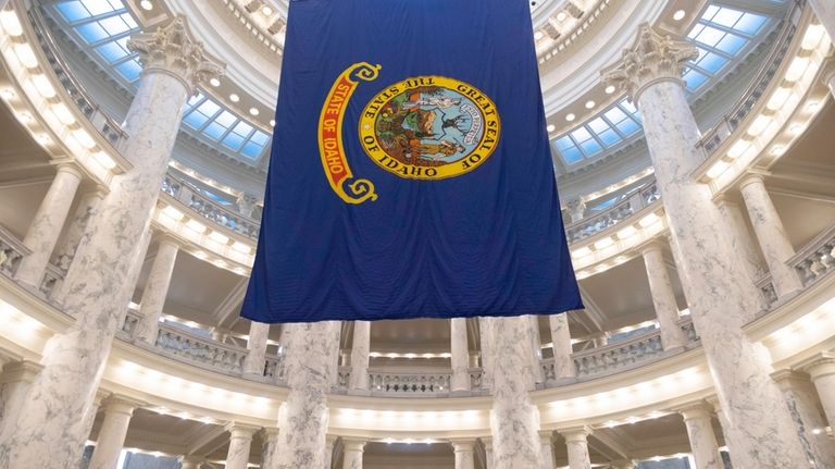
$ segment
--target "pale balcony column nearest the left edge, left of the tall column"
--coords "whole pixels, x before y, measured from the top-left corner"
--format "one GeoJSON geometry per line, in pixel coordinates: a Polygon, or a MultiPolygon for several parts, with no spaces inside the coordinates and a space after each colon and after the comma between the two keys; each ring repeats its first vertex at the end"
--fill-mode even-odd
{"type": "Polygon", "coordinates": [[[52,257],[61,231],[73,205],[75,193],[82,183],[82,172],[71,164],[58,166],[55,178],[35,212],[23,244],[32,250],[17,267],[15,277],[29,286],[40,287],[43,273],[52,257]]]}

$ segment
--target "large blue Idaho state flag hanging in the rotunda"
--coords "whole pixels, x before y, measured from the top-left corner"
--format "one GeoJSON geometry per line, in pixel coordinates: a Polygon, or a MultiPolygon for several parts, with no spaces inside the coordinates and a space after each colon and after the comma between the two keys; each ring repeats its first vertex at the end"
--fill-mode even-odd
{"type": "Polygon", "coordinates": [[[260,322],[582,308],[527,0],[289,3],[260,322]]]}

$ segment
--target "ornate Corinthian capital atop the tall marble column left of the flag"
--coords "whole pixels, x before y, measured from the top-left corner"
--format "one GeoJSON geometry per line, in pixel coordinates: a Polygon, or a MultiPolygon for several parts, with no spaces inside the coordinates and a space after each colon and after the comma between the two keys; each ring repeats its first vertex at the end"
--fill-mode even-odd
{"type": "Polygon", "coordinates": [[[134,35],[127,41],[127,48],[139,53],[146,73],[167,73],[182,81],[189,92],[223,75],[226,66],[203,50],[202,42],[195,39],[184,16],[177,16],[154,32],[134,35]]]}

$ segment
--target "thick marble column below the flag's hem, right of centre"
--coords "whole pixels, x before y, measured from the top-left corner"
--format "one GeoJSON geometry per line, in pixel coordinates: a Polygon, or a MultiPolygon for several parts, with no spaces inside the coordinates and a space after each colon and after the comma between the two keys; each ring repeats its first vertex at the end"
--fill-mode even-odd
{"type": "Polygon", "coordinates": [[[485,318],[490,344],[489,375],[493,380],[494,468],[539,466],[539,409],[528,394],[534,390],[529,320],[526,317],[485,318]],[[499,353],[498,350],[501,350],[499,353]]]}

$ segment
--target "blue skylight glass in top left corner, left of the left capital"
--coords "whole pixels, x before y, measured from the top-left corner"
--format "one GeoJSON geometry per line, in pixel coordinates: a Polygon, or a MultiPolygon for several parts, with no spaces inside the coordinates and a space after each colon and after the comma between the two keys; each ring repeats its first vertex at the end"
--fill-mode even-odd
{"type": "Polygon", "coordinates": [[[127,50],[127,39],[139,25],[122,0],[60,1],[54,8],[104,65],[114,69],[125,84],[136,84],[142,69],[137,54],[127,50]]]}

